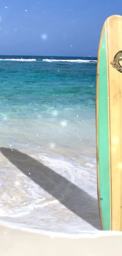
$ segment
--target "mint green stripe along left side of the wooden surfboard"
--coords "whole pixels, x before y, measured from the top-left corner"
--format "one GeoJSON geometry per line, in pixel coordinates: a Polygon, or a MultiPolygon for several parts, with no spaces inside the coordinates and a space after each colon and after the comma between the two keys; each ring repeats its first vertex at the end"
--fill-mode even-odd
{"type": "Polygon", "coordinates": [[[107,42],[104,30],[99,64],[98,92],[98,151],[101,213],[104,230],[110,230],[110,163],[109,163],[109,119],[108,119],[108,79],[107,42]]]}

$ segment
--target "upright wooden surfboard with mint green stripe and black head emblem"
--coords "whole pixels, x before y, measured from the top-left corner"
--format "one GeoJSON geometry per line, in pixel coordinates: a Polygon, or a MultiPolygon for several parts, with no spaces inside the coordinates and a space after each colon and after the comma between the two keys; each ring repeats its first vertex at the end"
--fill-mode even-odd
{"type": "Polygon", "coordinates": [[[105,21],[96,75],[97,194],[102,229],[122,230],[122,16],[105,21]]]}

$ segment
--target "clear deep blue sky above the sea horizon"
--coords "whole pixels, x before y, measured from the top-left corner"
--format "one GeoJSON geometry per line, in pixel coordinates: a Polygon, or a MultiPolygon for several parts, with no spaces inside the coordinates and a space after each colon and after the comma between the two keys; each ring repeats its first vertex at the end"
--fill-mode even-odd
{"type": "Polygon", "coordinates": [[[1,0],[0,55],[97,56],[113,14],[121,0],[1,0]]]}

